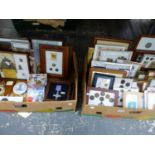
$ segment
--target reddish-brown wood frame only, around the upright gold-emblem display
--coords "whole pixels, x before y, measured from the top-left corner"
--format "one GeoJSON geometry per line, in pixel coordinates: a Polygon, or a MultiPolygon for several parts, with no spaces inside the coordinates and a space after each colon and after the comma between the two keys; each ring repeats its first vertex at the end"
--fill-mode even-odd
{"type": "Polygon", "coordinates": [[[55,78],[67,77],[68,64],[69,64],[69,48],[65,47],[65,46],[40,45],[40,70],[41,70],[41,73],[46,73],[46,60],[45,60],[46,50],[53,50],[55,52],[63,53],[62,75],[47,73],[48,77],[55,77],[55,78]]]}

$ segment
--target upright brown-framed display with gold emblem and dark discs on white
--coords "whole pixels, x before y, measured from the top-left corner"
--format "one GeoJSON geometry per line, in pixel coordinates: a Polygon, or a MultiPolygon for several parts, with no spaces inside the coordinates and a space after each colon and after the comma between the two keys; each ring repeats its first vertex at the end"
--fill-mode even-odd
{"type": "Polygon", "coordinates": [[[40,45],[40,70],[49,77],[64,78],[68,75],[69,48],[40,45]]]}

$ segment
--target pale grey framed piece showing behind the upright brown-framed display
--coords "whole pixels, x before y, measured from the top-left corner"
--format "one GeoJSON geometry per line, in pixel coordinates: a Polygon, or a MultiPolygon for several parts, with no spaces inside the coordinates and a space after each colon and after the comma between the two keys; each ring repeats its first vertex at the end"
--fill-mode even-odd
{"type": "Polygon", "coordinates": [[[34,56],[37,65],[40,64],[40,45],[52,45],[52,46],[62,46],[63,42],[61,40],[39,40],[32,39],[32,48],[34,50],[34,56]]]}

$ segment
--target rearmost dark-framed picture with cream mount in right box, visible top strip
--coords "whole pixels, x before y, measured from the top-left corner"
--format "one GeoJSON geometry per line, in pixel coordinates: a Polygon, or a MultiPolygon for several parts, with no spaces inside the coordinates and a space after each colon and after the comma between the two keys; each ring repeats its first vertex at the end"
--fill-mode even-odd
{"type": "Polygon", "coordinates": [[[94,39],[94,44],[120,46],[120,47],[124,47],[125,50],[131,49],[132,47],[132,41],[130,40],[102,38],[102,37],[96,37],[94,39]]]}

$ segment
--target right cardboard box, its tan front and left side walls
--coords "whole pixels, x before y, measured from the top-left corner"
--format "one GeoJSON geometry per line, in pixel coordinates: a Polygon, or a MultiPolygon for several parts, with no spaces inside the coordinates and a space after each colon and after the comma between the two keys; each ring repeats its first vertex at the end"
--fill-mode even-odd
{"type": "Polygon", "coordinates": [[[83,83],[82,83],[82,92],[83,92],[83,106],[82,112],[83,115],[92,115],[108,118],[132,118],[138,120],[149,120],[155,119],[155,109],[154,110],[144,110],[144,109],[127,109],[120,107],[106,107],[106,106],[91,106],[86,103],[86,87],[87,87],[87,73],[89,68],[89,63],[87,57],[85,58],[85,63],[83,67],[83,83]]]}

